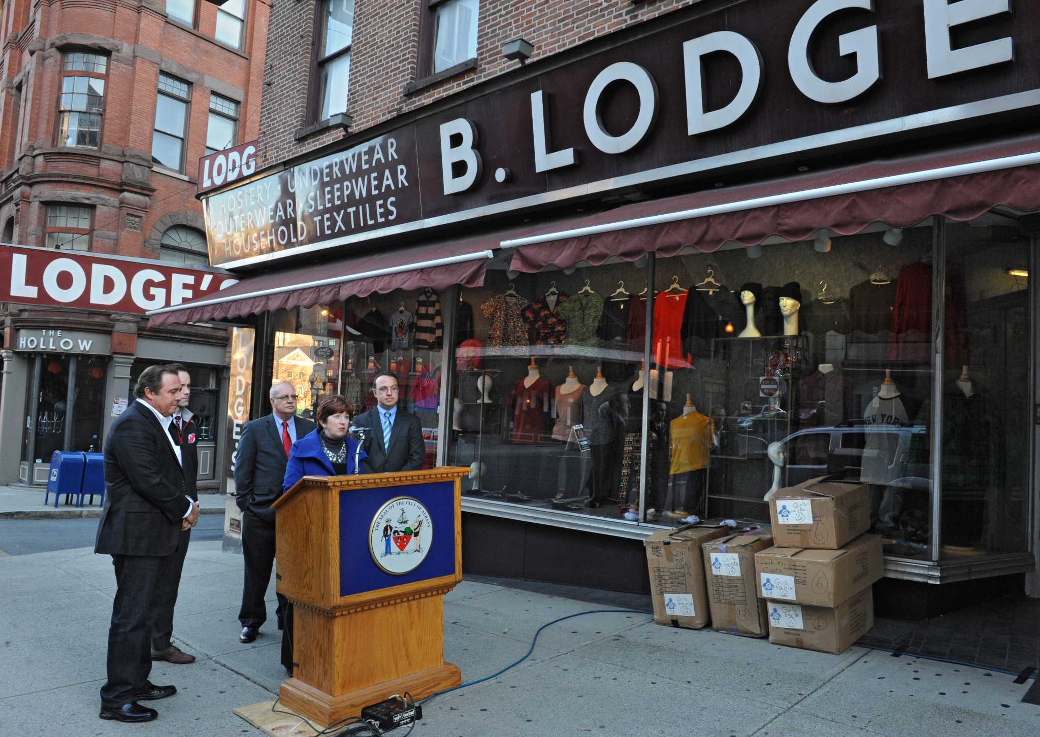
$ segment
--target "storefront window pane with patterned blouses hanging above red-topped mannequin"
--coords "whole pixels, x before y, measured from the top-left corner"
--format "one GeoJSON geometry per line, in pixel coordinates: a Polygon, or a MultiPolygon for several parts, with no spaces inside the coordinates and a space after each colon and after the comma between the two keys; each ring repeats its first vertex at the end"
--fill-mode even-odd
{"type": "Polygon", "coordinates": [[[473,469],[465,494],[639,519],[646,273],[489,270],[463,292],[449,462],[473,469]]]}

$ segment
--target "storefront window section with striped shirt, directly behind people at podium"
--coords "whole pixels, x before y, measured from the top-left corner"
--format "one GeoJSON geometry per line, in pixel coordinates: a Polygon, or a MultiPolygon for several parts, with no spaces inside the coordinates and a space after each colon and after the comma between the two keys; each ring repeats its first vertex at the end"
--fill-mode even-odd
{"type": "Polygon", "coordinates": [[[433,289],[371,294],[347,300],[345,316],[340,393],[357,415],[375,406],[371,389],[379,373],[397,376],[398,406],[419,418],[425,446],[423,468],[433,468],[444,404],[441,295],[433,289]]]}

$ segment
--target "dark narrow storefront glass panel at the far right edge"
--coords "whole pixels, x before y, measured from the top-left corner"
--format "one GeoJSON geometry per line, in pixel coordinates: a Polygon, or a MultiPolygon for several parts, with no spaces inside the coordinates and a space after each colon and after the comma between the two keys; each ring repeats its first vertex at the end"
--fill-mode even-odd
{"type": "Polygon", "coordinates": [[[1030,240],[995,212],[946,223],[941,557],[1022,552],[1030,514],[1030,240]]]}

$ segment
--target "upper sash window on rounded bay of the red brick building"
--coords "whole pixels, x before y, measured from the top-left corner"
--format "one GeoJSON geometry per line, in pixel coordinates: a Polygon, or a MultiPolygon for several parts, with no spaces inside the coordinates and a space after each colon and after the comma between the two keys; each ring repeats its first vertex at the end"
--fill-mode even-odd
{"type": "Polygon", "coordinates": [[[97,149],[105,103],[108,59],[76,51],[64,55],[58,103],[58,146],[97,149]]]}

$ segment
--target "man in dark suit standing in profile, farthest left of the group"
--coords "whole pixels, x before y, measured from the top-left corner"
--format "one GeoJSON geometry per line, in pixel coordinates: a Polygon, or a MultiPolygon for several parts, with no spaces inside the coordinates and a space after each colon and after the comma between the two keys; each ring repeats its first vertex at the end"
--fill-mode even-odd
{"type": "Polygon", "coordinates": [[[187,495],[181,449],[167,429],[181,393],[177,372],[150,366],[133,393],[136,401],[105,439],[105,507],[94,546],[112,556],[116,583],[99,716],[150,721],[158,712],[137,702],[172,696],[177,688],[148,680],[149,612],[159,605],[159,583],[172,577],[181,531],[199,522],[199,504],[187,495]]]}

